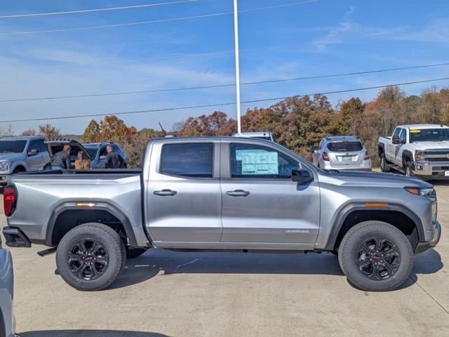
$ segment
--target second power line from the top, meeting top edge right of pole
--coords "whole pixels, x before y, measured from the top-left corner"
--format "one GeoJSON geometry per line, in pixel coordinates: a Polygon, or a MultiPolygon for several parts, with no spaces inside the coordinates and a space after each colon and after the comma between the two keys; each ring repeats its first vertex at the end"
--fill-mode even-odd
{"type": "MultiPolygon", "coordinates": [[[[281,5],[266,6],[266,7],[259,7],[259,8],[250,8],[250,9],[245,9],[243,11],[239,11],[238,13],[265,11],[268,9],[283,8],[283,7],[294,6],[294,5],[299,5],[299,4],[308,4],[308,3],[316,2],[316,1],[318,1],[318,0],[297,1],[297,2],[292,2],[289,4],[281,4],[281,5]]],[[[99,25],[99,26],[90,26],[90,27],[48,29],[48,30],[29,30],[29,31],[23,31],[23,32],[7,32],[7,33],[0,33],[0,36],[18,35],[18,34],[53,33],[53,32],[72,32],[72,31],[87,30],[87,29],[101,29],[101,28],[134,26],[134,25],[147,25],[150,23],[159,23],[159,22],[172,22],[172,21],[199,19],[199,18],[212,18],[214,16],[230,15],[230,14],[233,14],[233,12],[211,13],[211,14],[203,14],[203,15],[184,16],[181,18],[167,18],[167,19],[160,19],[160,20],[128,22],[128,23],[118,23],[118,24],[112,24],[112,25],[99,25]]]]}

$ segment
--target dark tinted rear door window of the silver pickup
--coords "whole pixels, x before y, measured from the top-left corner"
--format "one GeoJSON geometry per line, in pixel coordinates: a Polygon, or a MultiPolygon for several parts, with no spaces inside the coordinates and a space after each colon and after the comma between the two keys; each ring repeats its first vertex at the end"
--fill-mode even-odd
{"type": "Polygon", "coordinates": [[[213,143],[166,144],[162,147],[160,173],[188,178],[212,178],[213,143]]]}

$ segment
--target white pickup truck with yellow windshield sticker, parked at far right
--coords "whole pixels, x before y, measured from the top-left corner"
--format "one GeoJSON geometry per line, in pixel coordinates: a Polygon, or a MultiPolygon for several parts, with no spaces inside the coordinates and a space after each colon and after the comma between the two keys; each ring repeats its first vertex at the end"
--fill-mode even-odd
{"type": "Polygon", "coordinates": [[[399,125],[379,137],[380,168],[423,179],[449,179],[449,126],[399,125]]]}

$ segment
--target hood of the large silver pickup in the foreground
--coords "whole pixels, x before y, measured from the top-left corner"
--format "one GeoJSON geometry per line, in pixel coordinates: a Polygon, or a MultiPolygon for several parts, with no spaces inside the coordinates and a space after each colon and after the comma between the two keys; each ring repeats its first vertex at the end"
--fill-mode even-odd
{"type": "Polygon", "coordinates": [[[430,183],[417,178],[400,176],[395,173],[363,171],[320,171],[320,182],[360,187],[433,187],[430,183]]]}

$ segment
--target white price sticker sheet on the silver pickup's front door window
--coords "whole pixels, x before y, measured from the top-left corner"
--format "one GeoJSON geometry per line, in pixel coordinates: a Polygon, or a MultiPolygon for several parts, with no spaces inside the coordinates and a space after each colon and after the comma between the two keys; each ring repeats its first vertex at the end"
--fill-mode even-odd
{"type": "Polygon", "coordinates": [[[276,151],[235,150],[235,159],[242,163],[242,174],[279,174],[276,151]]]}

